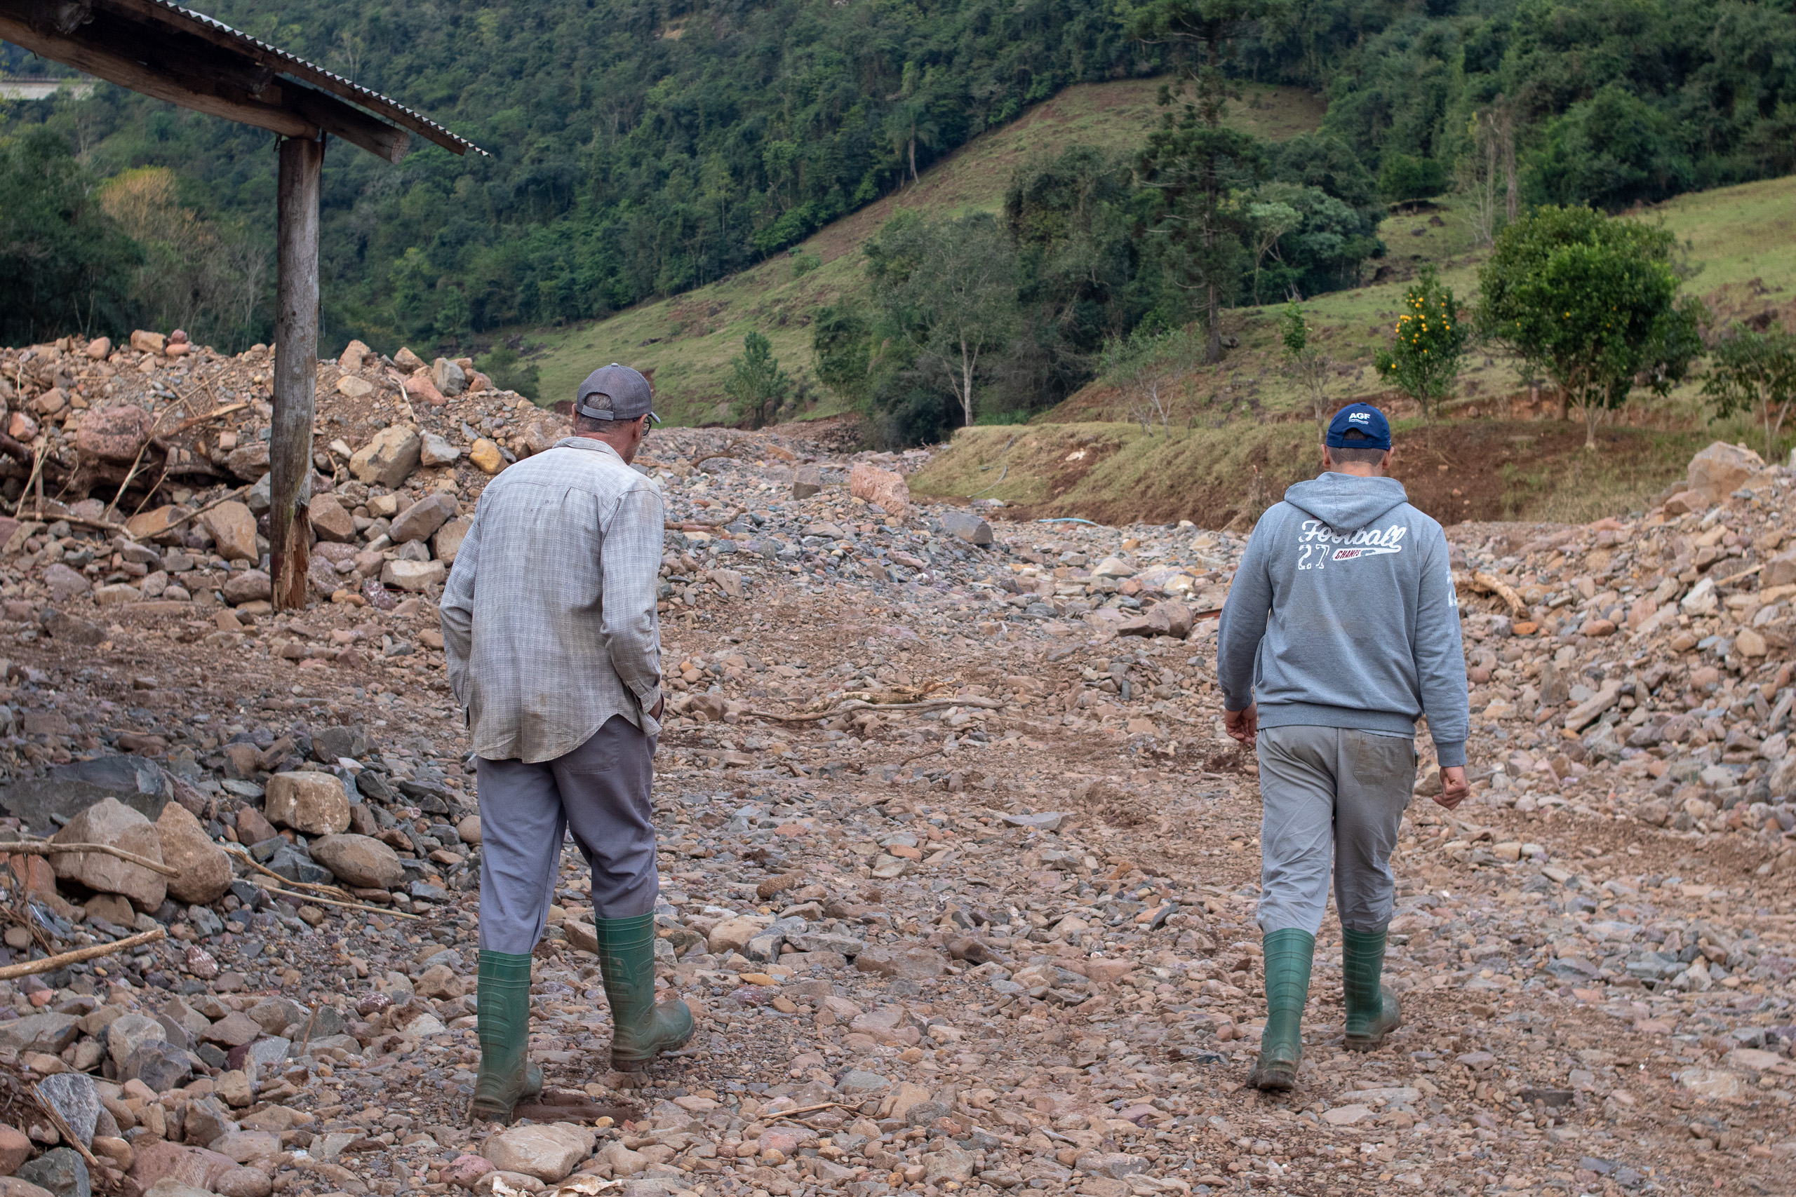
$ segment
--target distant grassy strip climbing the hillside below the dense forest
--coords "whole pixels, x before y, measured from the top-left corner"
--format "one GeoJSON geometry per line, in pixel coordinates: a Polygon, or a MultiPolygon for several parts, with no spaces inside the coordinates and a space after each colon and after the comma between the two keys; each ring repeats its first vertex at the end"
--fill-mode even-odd
{"type": "MultiPolygon", "coordinates": [[[[657,411],[674,424],[726,418],[724,377],[749,330],[772,341],[794,379],[810,373],[812,312],[864,285],[860,246],[898,208],[938,214],[995,212],[1011,174],[1029,156],[1065,145],[1139,145],[1158,118],[1158,79],[1067,88],[1017,122],[986,133],[923,172],[921,179],[819,230],[799,246],[823,260],[794,276],[785,253],[686,294],[643,303],[609,319],[530,334],[541,346],[542,400],[566,398],[594,366],[621,361],[654,371],[657,411]]],[[[1322,104],[1297,88],[1254,86],[1232,124],[1263,138],[1313,129],[1322,104]]],[[[808,415],[832,415],[823,406],[808,415]]]]}

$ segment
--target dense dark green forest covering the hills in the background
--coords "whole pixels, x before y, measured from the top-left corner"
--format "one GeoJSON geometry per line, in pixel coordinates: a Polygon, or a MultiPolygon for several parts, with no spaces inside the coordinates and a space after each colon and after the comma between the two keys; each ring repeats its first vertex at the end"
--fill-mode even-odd
{"type": "MultiPolygon", "coordinates": [[[[1160,74],[1173,52],[1131,39],[1114,0],[205,7],[494,151],[422,149],[395,169],[332,149],[327,343],[383,348],[474,348],[715,280],[1069,83],[1160,74]]],[[[1796,169],[1791,0],[1282,0],[1232,50],[1241,77],[1325,93],[1324,131],[1388,194],[1446,188],[1496,144],[1514,147],[1523,203],[1618,208],[1796,169]]],[[[31,68],[16,52],[0,66],[31,68]]],[[[38,203],[79,226],[86,318],[185,303],[208,339],[266,337],[251,249],[273,215],[268,142],[110,86],[16,104],[0,169],[27,181],[0,223],[38,203]],[[57,153],[77,162],[45,165],[57,153]],[[133,176],[131,203],[115,192],[84,224],[66,215],[97,179],[145,167],[167,170],[133,176]],[[31,192],[38,179],[66,203],[31,192]],[[135,264],[129,289],[93,282],[115,251],[135,264]]]]}

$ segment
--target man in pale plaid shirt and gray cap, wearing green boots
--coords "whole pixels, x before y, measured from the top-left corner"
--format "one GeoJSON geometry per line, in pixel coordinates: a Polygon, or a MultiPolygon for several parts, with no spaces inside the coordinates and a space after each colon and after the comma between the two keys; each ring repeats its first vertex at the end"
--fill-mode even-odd
{"type": "Polygon", "coordinates": [[[663,513],[659,488],[630,468],[650,406],[638,371],[594,370],[575,434],[481,494],[444,590],[449,684],[480,772],[476,1122],[510,1122],[542,1089],[528,1062],[530,953],[568,831],[593,867],[612,1068],[643,1068],[693,1030],[686,1003],[657,1005],[654,989],[663,513]]]}

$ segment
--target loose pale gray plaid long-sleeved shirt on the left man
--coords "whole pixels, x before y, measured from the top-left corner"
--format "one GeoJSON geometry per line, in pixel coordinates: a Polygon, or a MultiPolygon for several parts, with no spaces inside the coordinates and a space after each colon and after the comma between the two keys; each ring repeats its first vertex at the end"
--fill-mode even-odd
{"type": "Polygon", "coordinates": [[[614,714],[661,730],[661,488],[587,436],[492,479],[442,601],[478,756],[553,761],[614,714]]]}

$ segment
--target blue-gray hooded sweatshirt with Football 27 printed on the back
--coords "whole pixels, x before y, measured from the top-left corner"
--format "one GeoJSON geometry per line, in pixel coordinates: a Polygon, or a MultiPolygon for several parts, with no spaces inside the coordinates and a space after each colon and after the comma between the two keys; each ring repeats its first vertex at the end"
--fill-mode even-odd
{"type": "Polygon", "coordinates": [[[1440,524],[1394,477],[1324,474],[1254,528],[1223,607],[1223,705],[1261,727],[1415,736],[1466,763],[1471,709],[1458,598],[1440,524]]]}

